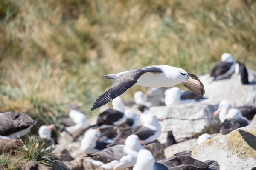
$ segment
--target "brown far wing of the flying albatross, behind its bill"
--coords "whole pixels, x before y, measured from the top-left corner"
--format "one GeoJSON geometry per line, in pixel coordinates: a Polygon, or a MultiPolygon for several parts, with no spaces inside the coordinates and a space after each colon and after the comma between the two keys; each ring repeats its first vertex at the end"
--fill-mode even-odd
{"type": "Polygon", "coordinates": [[[198,80],[200,82],[200,85],[195,85],[191,82],[183,82],[182,84],[188,88],[190,91],[194,92],[195,94],[198,94],[200,96],[203,96],[205,91],[204,91],[204,85],[203,83],[198,79],[198,77],[195,75],[195,74],[191,74],[191,73],[188,73],[189,76],[192,78],[192,79],[195,79],[195,80],[198,80]]]}

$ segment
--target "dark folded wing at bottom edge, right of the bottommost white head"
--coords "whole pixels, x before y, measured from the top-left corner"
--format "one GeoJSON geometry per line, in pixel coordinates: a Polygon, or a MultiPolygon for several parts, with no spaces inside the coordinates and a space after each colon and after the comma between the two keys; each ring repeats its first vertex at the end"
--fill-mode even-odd
{"type": "Polygon", "coordinates": [[[157,161],[168,167],[168,170],[207,170],[209,165],[191,156],[172,156],[169,159],[157,161]]]}

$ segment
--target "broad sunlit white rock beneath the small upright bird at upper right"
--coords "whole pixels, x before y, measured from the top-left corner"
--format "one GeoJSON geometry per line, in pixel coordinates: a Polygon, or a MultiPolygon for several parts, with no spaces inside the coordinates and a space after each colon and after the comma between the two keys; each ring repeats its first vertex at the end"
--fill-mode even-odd
{"type": "Polygon", "coordinates": [[[233,74],[230,79],[210,82],[211,77],[205,74],[199,77],[204,84],[205,94],[210,101],[218,104],[222,100],[229,100],[233,107],[256,104],[256,75],[249,72],[249,81],[253,85],[242,85],[233,74]],[[236,91],[236,93],[234,93],[236,91]]]}

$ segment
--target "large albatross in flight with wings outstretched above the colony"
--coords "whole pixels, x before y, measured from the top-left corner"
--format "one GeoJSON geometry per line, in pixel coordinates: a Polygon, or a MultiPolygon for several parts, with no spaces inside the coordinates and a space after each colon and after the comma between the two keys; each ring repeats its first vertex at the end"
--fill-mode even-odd
{"type": "Polygon", "coordinates": [[[171,87],[182,83],[190,91],[200,96],[204,95],[204,85],[194,74],[169,65],[153,65],[117,74],[105,75],[106,79],[116,80],[113,86],[94,102],[91,111],[99,108],[117,96],[123,94],[133,85],[149,88],[171,87]]]}

